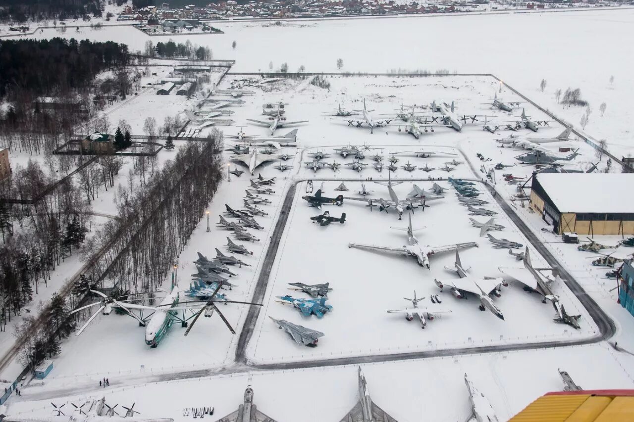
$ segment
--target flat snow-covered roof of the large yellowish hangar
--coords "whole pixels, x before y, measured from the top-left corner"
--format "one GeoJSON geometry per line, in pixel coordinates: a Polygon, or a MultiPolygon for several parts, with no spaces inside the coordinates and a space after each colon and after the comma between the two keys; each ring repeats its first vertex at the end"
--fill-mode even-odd
{"type": "Polygon", "coordinates": [[[540,173],[535,176],[559,212],[633,213],[628,173],[540,173]]]}

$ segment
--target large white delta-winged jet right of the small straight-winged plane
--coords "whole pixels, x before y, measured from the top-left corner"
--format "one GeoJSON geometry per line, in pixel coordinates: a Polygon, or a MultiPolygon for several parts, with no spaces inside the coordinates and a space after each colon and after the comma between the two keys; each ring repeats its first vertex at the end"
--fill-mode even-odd
{"type": "Polygon", "coordinates": [[[472,293],[473,295],[479,297],[480,310],[484,312],[484,310],[488,309],[493,313],[493,315],[503,320],[504,315],[502,314],[502,311],[498,308],[495,302],[493,302],[493,299],[489,297],[489,294],[493,293],[496,297],[500,297],[501,286],[508,286],[507,282],[504,281],[503,278],[470,277],[469,274],[467,274],[467,269],[462,267],[458,250],[456,250],[456,262],[454,266],[455,271],[458,273],[460,278],[446,280],[439,280],[435,278],[434,283],[436,283],[436,285],[440,288],[440,291],[443,291],[444,286],[448,286],[451,293],[453,293],[453,295],[455,295],[458,299],[465,297],[465,293],[472,293]]]}

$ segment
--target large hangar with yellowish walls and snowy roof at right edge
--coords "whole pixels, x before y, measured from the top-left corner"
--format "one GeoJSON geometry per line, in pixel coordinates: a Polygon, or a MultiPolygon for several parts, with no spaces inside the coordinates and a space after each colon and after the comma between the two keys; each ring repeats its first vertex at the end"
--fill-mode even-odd
{"type": "Polygon", "coordinates": [[[628,173],[538,173],[531,207],[557,234],[634,234],[634,195],[628,173]]]}

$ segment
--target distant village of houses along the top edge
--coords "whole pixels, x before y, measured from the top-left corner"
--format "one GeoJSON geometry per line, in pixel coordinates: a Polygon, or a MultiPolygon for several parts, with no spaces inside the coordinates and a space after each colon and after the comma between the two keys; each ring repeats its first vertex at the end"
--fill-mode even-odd
{"type": "MultiPolygon", "coordinates": [[[[491,4],[490,10],[506,8],[543,9],[553,7],[608,6],[597,0],[585,1],[500,1],[491,4]]],[[[172,9],[168,3],[133,10],[125,6],[118,20],[136,20],[148,25],[167,24],[167,29],[193,30],[192,20],[224,20],[228,18],[309,18],[327,16],[393,15],[411,13],[451,13],[489,10],[489,0],[443,1],[438,3],[399,2],[392,0],[302,0],[297,3],[279,1],[249,1],[238,4],[235,0],[221,1],[207,6],[190,4],[182,9],[172,9]],[[177,25],[174,28],[174,25],[177,25]]],[[[165,28],[164,28],[165,29],[165,28]]]]}

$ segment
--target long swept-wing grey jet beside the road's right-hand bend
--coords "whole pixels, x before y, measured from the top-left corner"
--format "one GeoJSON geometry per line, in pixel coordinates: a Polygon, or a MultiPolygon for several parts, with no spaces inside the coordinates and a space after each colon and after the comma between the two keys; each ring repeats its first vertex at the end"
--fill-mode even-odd
{"type": "MultiPolygon", "coordinates": [[[[547,300],[550,300],[553,304],[553,309],[555,309],[555,317],[553,318],[553,321],[568,324],[569,326],[578,329],[578,319],[581,318],[581,316],[567,314],[564,305],[559,302],[559,296],[555,295],[550,287],[552,279],[548,279],[540,272],[553,271],[553,269],[534,268],[531,262],[531,255],[529,253],[528,246],[526,246],[526,250],[524,251],[524,259],[522,259],[522,263],[524,264],[524,268],[500,267],[499,270],[526,286],[525,290],[539,293],[542,297],[541,302],[543,304],[545,304],[547,300]]],[[[555,276],[555,280],[557,279],[559,279],[559,277],[555,276]]]]}

